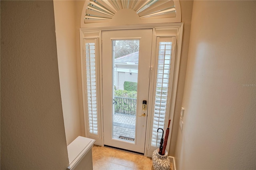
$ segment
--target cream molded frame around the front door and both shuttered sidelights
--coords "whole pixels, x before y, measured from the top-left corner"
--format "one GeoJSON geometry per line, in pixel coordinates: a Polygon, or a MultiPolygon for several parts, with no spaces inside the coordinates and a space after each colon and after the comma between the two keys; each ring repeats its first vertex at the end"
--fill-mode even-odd
{"type": "MultiPolygon", "coordinates": [[[[176,36],[176,47],[175,47],[175,63],[174,63],[174,77],[173,77],[173,84],[172,84],[172,91],[170,96],[170,112],[168,114],[168,119],[171,119],[170,124],[170,132],[172,132],[172,124],[173,124],[173,117],[174,117],[174,107],[176,102],[176,92],[177,92],[177,86],[178,86],[178,74],[179,74],[179,67],[180,67],[180,56],[181,56],[181,47],[182,47],[182,36],[183,36],[183,27],[184,23],[165,23],[165,24],[137,24],[137,25],[128,25],[128,26],[108,26],[108,27],[95,27],[95,28],[80,28],[80,61],[81,61],[81,73],[83,75],[83,42],[84,39],[87,38],[98,38],[98,49],[99,49],[99,58],[100,62],[98,63],[99,69],[100,69],[100,94],[98,95],[98,99],[100,99],[99,106],[100,106],[100,117],[99,117],[99,138],[96,139],[95,144],[103,146],[104,145],[104,131],[103,131],[103,105],[102,105],[102,31],[108,31],[108,30],[140,30],[140,29],[153,29],[153,35],[152,35],[152,59],[151,61],[155,60],[156,57],[156,38],[159,36],[176,36]]],[[[153,68],[151,74],[150,74],[150,83],[154,84],[154,77],[152,77],[154,74],[154,63],[151,63],[151,67],[153,68]]],[[[82,81],[83,77],[81,77],[82,81]]],[[[83,86],[82,86],[83,87],[83,86]]],[[[150,86],[150,92],[152,91],[152,85],[150,86]]],[[[152,95],[149,93],[149,96],[152,95]]],[[[83,94],[84,96],[84,94],[83,94]]],[[[85,127],[85,136],[88,136],[87,134],[87,120],[86,120],[86,103],[83,99],[83,113],[84,113],[84,127],[85,127]]],[[[150,136],[150,127],[151,127],[151,119],[147,120],[147,127],[146,127],[146,143],[145,143],[145,156],[152,156],[152,153],[154,150],[149,149],[149,136],[150,136]]],[[[172,137],[172,134],[168,137],[168,143],[166,150],[169,150],[170,146],[170,138],[172,137]]]]}

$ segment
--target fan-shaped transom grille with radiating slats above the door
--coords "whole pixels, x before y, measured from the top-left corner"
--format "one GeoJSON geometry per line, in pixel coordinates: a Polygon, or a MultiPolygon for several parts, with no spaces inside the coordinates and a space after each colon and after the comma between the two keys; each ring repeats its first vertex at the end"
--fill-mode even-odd
{"type": "Polygon", "coordinates": [[[84,23],[111,21],[122,9],[134,10],[140,19],[175,18],[173,0],[90,0],[86,7],[84,23]]]}

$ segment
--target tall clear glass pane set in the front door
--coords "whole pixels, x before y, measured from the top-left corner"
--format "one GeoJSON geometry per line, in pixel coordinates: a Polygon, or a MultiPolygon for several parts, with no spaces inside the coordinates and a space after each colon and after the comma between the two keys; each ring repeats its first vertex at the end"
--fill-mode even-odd
{"type": "Polygon", "coordinates": [[[113,40],[112,138],[135,142],[139,40],[113,40]]]}

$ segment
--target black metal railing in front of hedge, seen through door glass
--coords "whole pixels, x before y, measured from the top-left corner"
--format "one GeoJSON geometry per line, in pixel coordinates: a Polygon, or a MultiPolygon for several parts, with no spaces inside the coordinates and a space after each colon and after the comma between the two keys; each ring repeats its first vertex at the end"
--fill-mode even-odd
{"type": "Polygon", "coordinates": [[[136,103],[137,99],[126,97],[115,97],[115,113],[124,115],[136,115],[136,103]]]}

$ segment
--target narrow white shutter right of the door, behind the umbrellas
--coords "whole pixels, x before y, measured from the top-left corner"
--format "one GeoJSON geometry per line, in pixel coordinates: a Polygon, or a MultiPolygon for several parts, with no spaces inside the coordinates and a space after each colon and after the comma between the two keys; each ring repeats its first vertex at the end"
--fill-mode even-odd
{"type": "MultiPolygon", "coordinates": [[[[157,132],[158,128],[164,129],[164,123],[167,122],[169,112],[170,86],[172,77],[172,38],[157,38],[156,53],[156,78],[154,85],[154,101],[152,107],[153,126],[151,146],[159,147],[162,138],[162,130],[157,132]]],[[[164,129],[165,131],[166,129],[164,129]]]]}

